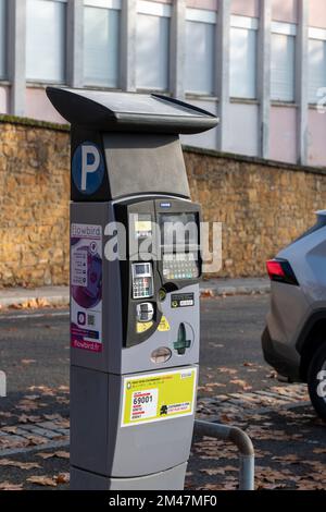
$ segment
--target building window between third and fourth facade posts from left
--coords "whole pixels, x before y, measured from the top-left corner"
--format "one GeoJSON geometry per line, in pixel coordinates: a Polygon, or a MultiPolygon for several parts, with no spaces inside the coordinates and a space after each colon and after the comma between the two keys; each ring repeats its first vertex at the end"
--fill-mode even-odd
{"type": "Polygon", "coordinates": [[[136,85],[145,89],[168,89],[171,5],[138,1],[136,85]]]}

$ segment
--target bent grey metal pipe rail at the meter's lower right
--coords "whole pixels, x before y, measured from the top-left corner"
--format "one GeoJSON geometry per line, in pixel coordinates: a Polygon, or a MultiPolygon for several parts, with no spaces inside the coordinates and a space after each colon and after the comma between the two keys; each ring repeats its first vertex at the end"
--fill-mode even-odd
{"type": "Polygon", "coordinates": [[[233,442],[240,453],[239,490],[254,490],[254,450],[250,437],[238,427],[195,420],[195,434],[233,442]]]}

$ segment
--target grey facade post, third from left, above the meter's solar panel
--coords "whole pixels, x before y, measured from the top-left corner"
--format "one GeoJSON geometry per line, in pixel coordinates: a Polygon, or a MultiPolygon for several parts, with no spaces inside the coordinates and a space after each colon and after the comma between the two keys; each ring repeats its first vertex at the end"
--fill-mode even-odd
{"type": "Polygon", "coordinates": [[[135,92],[137,0],[122,2],[121,15],[121,87],[123,90],[135,92]]]}

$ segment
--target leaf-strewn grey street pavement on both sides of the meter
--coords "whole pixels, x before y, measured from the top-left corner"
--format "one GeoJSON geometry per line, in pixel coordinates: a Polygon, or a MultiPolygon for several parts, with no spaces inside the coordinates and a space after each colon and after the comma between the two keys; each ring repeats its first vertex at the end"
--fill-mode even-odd
{"type": "MultiPolygon", "coordinates": [[[[326,488],[326,430],[304,385],[280,385],[263,361],[268,296],[203,298],[198,416],[235,424],[256,451],[256,488],[326,488]]],[[[68,312],[0,314],[0,489],[68,488],[68,312]]],[[[235,489],[235,447],[193,439],[186,487],[235,489]]]]}

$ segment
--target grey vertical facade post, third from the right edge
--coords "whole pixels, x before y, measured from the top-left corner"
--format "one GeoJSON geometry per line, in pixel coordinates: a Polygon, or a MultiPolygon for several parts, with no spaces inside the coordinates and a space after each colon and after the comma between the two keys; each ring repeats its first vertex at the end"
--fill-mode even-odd
{"type": "Polygon", "coordinates": [[[220,0],[216,24],[216,93],[218,97],[217,149],[227,149],[229,123],[230,0],[220,0]]]}

